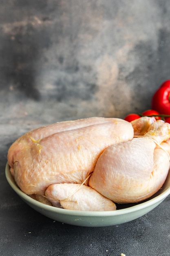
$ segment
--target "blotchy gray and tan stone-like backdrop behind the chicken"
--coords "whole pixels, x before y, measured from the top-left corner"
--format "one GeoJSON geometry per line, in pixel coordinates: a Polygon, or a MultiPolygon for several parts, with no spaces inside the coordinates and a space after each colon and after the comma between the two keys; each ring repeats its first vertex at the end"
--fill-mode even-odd
{"type": "Polygon", "coordinates": [[[124,117],[170,79],[169,0],[0,0],[0,122],[124,117]]]}

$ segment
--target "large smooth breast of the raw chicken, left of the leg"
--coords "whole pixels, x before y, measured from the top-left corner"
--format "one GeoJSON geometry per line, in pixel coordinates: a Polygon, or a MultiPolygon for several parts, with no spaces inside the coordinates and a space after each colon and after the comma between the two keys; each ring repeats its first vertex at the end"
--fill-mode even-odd
{"type": "Polygon", "coordinates": [[[20,137],[9,148],[8,162],[24,193],[44,195],[52,184],[88,180],[103,150],[133,135],[132,125],[117,118],[57,123],[20,137]]]}

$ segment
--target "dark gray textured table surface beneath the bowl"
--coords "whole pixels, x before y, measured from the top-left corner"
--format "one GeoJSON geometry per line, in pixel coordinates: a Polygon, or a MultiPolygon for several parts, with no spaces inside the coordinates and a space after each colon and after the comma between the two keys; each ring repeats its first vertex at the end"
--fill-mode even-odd
{"type": "Polygon", "coordinates": [[[111,227],[77,227],[30,208],[5,177],[6,155],[16,134],[0,126],[0,255],[169,256],[170,196],[146,215],[111,227]]]}

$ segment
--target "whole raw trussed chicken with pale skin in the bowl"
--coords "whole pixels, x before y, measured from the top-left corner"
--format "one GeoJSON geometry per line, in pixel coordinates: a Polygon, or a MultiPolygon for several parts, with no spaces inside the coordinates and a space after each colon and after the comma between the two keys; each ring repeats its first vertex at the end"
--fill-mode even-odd
{"type": "Polygon", "coordinates": [[[92,117],[32,130],[9,148],[20,189],[35,200],[81,211],[115,210],[156,193],[170,168],[170,125],[92,117]],[[135,136],[135,137],[134,137],[135,136]]]}

